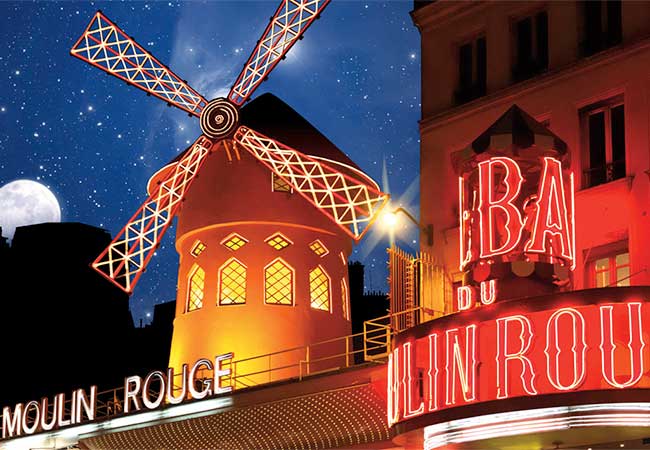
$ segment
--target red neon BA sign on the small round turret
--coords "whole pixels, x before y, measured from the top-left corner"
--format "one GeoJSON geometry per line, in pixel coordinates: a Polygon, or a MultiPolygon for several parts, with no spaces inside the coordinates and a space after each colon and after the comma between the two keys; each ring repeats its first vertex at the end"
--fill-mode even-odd
{"type": "Polygon", "coordinates": [[[471,263],[516,260],[573,269],[573,175],[564,172],[551,157],[542,158],[539,167],[494,156],[461,176],[460,270],[471,263]]]}

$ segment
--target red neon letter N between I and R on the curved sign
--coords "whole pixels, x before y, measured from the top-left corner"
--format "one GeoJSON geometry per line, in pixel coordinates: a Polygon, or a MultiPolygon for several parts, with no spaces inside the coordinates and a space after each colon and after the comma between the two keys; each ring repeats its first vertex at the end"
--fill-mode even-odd
{"type": "Polygon", "coordinates": [[[471,402],[476,398],[476,325],[465,327],[465,362],[458,339],[458,328],[447,330],[445,359],[445,403],[456,404],[456,378],[460,381],[463,398],[471,402]],[[450,367],[451,366],[451,367],[450,367]]]}

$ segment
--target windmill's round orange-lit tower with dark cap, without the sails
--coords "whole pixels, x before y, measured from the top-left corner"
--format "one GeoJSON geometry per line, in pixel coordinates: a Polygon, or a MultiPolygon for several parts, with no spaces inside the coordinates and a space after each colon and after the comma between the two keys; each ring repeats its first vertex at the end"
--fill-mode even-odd
{"type": "MultiPolygon", "coordinates": [[[[373,183],[272,94],[242,108],[241,121],[373,183]]],[[[230,351],[248,358],[351,333],[352,239],[237,146],[210,156],[201,169],[178,214],[176,248],[170,367],[230,351]]],[[[344,342],[339,347],[344,351],[344,342]]],[[[296,354],[277,355],[274,364],[282,358],[289,364],[296,354]]],[[[258,362],[268,366],[266,359],[258,362]]],[[[251,361],[242,370],[254,372],[254,366],[251,361]]]]}

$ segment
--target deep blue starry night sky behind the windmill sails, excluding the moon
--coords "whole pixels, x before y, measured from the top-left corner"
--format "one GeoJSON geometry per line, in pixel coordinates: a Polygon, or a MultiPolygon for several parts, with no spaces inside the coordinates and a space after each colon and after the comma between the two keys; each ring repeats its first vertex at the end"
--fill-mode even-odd
{"type": "MultiPolygon", "coordinates": [[[[419,34],[404,1],[333,0],[253,97],[272,92],[418,215],[419,34]]],[[[149,177],[200,133],[199,121],[69,55],[101,9],[208,100],[225,96],[277,2],[0,2],[0,187],[45,184],[62,220],[115,235],[149,177]]],[[[386,248],[417,229],[382,226],[351,257],[386,291],[386,248]]],[[[175,298],[174,227],[131,297],[134,318],[175,298]]]]}

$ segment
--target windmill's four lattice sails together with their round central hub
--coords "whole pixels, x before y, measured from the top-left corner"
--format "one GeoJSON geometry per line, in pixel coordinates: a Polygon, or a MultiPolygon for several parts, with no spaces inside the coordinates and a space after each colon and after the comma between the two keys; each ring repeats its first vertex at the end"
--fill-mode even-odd
{"type": "Polygon", "coordinates": [[[256,131],[239,126],[239,109],[284,59],[329,0],[284,0],[244,65],[228,98],[207,101],[101,11],[71,54],[199,118],[203,134],[157,176],[158,185],[93,267],[128,293],[159,245],[208,154],[234,144],[359,240],[388,196],[354,177],[256,131]]]}

